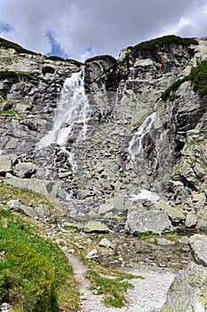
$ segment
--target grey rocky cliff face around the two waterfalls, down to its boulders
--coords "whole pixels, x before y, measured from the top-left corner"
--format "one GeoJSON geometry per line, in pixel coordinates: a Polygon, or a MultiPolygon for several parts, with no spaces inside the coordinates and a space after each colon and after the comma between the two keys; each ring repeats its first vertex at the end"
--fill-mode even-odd
{"type": "Polygon", "coordinates": [[[118,61],[88,60],[84,70],[0,49],[1,70],[14,71],[0,78],[0,175],[58,198],[72,217],[108,220],[132,234],[206,228],[206,99],[185,81],[162,100],[207,58],[207,39],[197,43],[128,48],[118,61]],[[72,110],[75,85],[64,82],[77,72],[85,105],[76,99],[72,110]],[[68,111],[79,118],[60,122],[63,141],[38,145],[68,111]]]}

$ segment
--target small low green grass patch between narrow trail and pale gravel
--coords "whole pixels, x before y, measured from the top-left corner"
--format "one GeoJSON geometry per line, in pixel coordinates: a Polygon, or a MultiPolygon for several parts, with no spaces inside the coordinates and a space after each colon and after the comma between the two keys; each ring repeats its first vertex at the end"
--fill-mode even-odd
{"type": "Polygon", "coordinates": [[[89,269],[86,272],[86,276],[91,279],[92,287],[91,290],[94,294],[100,295],[104,294],[104,302],[108,306],[112,306],[115,308],[123,307],[124,297],[123,292],[128,288],[132,288],[133,285],[126,281],[122,281],[123,278],[134,278],[134,275],[126,275],[116,277],[116,278],[108,278],[103,277],[95,270],[89,269]]]}

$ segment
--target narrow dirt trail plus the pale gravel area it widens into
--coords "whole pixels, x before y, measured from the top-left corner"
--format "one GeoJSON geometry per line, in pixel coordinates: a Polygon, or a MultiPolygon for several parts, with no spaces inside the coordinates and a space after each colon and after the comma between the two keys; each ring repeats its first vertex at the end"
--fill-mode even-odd
{"type": "Polygon", "coordinates": [[[125,295],[127,302],[125,307],[107,308],[102,302],[103,297],[94,295],[89,290],[90,281],[84,275],[87,270],[84,263],[77,259],[74,254],[67,256],[70,264],[74,267],[77,286],[81,293],[79,312],[148,312],[160,308],[174,277],[174,274],[166,269],[145,267],[140,270],[127,271],[131,274],[142,275],[145,278],[130,280],[134,288],[127,291],[125,295]]]}

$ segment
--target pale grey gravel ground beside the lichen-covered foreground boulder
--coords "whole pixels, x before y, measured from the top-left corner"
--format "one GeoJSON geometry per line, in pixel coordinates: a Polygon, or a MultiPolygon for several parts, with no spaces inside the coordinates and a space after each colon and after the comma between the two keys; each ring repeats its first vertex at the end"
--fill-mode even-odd
{"type": "Polygon", "coordinates": [[[123,308],[107,308],[102,296],[84,293],[80,312],[149,312],[160,308],[174,278],[171,270],[144,267],[140,270],[125,270],[127,273],[142,275],[144,279],[132,279],[133,289],[126,292],[126,305],[123,308]]]}

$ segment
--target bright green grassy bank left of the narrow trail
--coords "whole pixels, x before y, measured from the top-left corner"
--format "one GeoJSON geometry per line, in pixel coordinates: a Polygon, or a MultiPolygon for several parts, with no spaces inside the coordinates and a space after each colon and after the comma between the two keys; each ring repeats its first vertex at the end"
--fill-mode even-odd
{"type": "Polygon", "coordinates": [[[0,303],[16,311],[76,311],[77,300],[65,254],[0,207],[0,303]]]}

